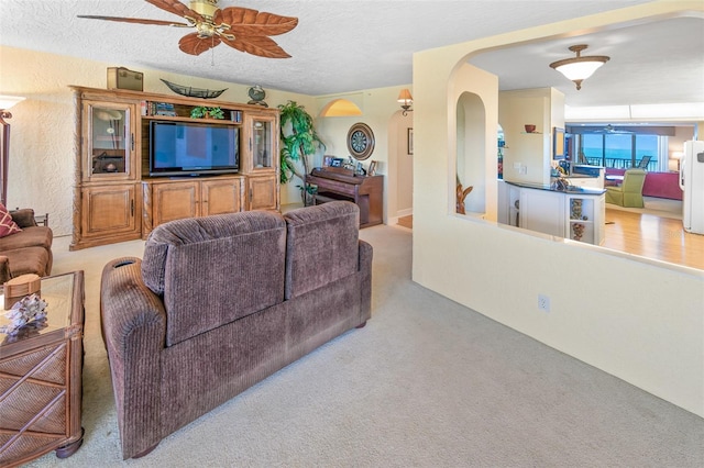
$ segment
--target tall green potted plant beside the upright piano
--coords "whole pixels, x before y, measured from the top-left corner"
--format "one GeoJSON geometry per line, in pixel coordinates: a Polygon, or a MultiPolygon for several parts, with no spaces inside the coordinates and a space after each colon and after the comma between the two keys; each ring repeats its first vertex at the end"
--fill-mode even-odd
{"type": "Polygon", "coordinates": [[[310,172],[308,157],[315,155],[318,148],[326,147],[314,126],[312,116],[306,109],[288,101],[279,104],[280,110],[280,182],[287,183],[294,177],[298,177],[302,185],[301,190],[304,205],[309,205],[315,193],[315,187],[306,183],[306,175],[310,172]],[[302,165],[302,172],[296,163],[302,165]]]}

